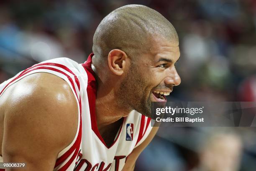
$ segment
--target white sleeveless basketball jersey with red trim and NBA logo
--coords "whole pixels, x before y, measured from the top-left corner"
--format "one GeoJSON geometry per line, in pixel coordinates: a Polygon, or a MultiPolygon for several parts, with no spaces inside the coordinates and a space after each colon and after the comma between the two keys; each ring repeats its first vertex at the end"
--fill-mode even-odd
{"type": "Polygon", "coordinates": [[[129,154],[152,129],[151,119],[133,110],[122,118],[123,124],[113,144],[110,147],[105,144],[95,117],[97,83],[91,68],[92,56],[90,54],[84,64],[68,58],[44,61],[0,84],[1,96],[18,80],[33,73],[46,72],[64,79],[71,87],[79,108],[77,133],[73,142],[59,153],[54,171],[122,171],[129,154]]]}

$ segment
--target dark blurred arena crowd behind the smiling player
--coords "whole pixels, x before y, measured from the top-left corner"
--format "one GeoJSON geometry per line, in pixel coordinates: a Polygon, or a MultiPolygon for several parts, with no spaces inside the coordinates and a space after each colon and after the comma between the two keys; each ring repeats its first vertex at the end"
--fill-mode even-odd
{"type": "MultiPolygon", "coordinates": [[[[159,11],[177,30],[182,84],[168,100],[256,102],[256,0],[1,0],[0,83],[52,58],[83,63],[102,18],[127,4],[159,11]]],[[[160,128],[135,168],[255,170],[253,127],[160,128]]]]}

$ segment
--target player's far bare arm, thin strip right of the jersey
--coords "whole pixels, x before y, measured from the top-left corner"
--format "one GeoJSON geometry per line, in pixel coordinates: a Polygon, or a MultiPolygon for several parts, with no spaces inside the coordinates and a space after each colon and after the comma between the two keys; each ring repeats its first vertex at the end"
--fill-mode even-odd
{"type": "Polygon", "coordinates": [[[141,154],[141,152],[146,148],[146,146],[151,142],[151,140],[156,135],[156,132],[159,127],[153,127],[151,132],[149,133],[146,140],[141,143],[138,147],[134,148],[131,154],[128,156],[127,161],[125,162],[125,165],[123,167],[122,171],[133,171],[135,167],[136,160],[138,156],[141,154]]]}

